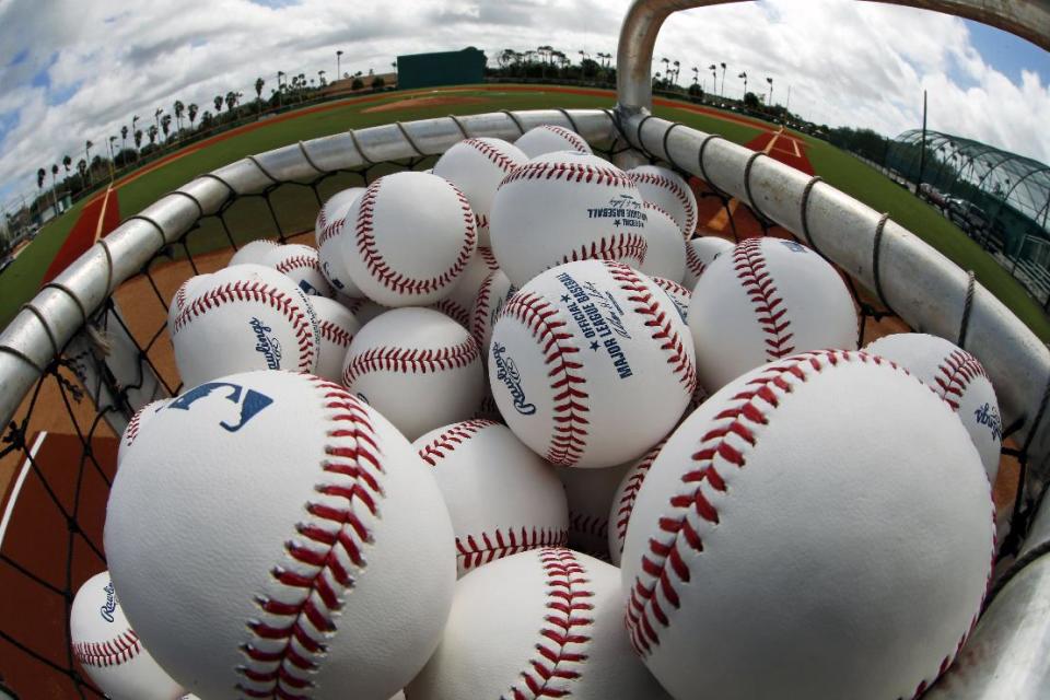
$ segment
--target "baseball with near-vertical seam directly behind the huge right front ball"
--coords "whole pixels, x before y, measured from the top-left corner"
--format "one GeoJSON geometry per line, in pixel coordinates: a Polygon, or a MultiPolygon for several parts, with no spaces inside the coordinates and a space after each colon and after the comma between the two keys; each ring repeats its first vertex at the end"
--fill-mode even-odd
{"type": "Polygon", "coordinates": [[[819,255],[793,241],[749,238],[697,281],[689,328],[700,384],[713,394],[766,362],[856,349],[858,319],[845,283],[819,255]]]}

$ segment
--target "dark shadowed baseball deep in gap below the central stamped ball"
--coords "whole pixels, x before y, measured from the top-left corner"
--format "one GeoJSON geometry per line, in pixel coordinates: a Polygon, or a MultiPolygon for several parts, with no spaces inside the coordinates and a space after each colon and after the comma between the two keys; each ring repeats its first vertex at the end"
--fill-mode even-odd
{"type": "Polygon", "coordinates": [[[609,508],[612,493],[629,465],[605,469],[558,467],[569,499],[569,546],[609,561],[609,508]]]}

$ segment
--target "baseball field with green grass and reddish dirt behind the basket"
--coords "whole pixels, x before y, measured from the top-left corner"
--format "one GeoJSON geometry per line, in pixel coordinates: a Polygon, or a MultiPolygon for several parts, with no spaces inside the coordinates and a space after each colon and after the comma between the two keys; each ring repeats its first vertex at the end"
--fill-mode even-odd
{"type": "MultiPolygon", "coordinates": [[[[435,91],[394,92],[348,98],[291,112],[279,117],[234,129],[194,143],[132,172],[86,201],[79,202],[57,221],[45,226],[11,267],[0,276],[0,327],[39,287],[57,275],[97,236],[136,214],[164,192],[195,176],[248,154],[260,153],[299,140],[338,133],[348,129],[499,109],[606,108],[615,103],[611,91],[553,86],[492,85],[435,91]]],[[[1050,340],[1050,322],[995,260],[964,235],[952,222],[920,199],[907,194],[875,170],[852,155],[801,133],[775,136],[774,127],[734,113],[723,113],[688,103],[657,100],[658,116],[681,121],[696,129],[721,133],[801,170],[820,175],[826,182],[890,217],[923,237],[977,279],[1011,308],[1037,336],[1050,340]]],[[[325,183],[323,194],[340,187],[340,178],[325,183]]],[[[713,201],[713,200],[712,200],[713,201]]],[[[304,187],[284,187],[275,196],[281,228],[295,232],[308,228],[316,210],[314,194],[304,187]]],[[[715,209],[719,209],[718,207],[715,209]]],[[[713,213],[712,217],[718,217],[713,213]]],[[[725,214],[722,214],[724,219],[725,214]]],[[[270,212],[261,202],[244,202],[226,214],[226,223],[241,240],[275,235],[270,212]]],[[[701,221],[701,224],[704,222],[701,221]]],[[[718,229],[718,220],[712,221],[718,229]]],[[[721,222],[724,225],[724,221],[721,222]]],[[[709,226],[711,228],[711,226],[709,226]]],[[[218,225],[192,238],[194,253],[228,245],[218,225]]],[[[180,252],[175,252],[179,254],[180,252]]],[[[185,252],[182,252],[184,254],[185,252]]]]}

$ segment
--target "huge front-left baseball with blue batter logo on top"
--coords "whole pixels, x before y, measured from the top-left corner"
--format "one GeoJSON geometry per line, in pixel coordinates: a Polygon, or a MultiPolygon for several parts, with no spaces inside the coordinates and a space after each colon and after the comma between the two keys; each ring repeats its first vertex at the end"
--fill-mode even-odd
{"type": "Polygon", "coordinates": [[[105,550],[143,643],[202,698],[388,698],[436,646],[456,575],[408,442],[289,372],[226,376],[158,413],[117,472],[105,550]]]}

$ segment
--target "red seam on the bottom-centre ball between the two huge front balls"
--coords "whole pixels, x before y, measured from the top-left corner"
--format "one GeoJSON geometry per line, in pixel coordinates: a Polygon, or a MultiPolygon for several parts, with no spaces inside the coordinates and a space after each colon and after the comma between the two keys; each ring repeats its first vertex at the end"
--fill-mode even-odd
{"type": "Polygon", "coordinates": [[[580,678],[587,660],[586,644],[594,610],[586,570],[570,549],[544,550],[539,555],[547,574],[546,625],[540,630],[536,655],[511,688],[514,700],[567,698],[571,682],[580,678]]]}

